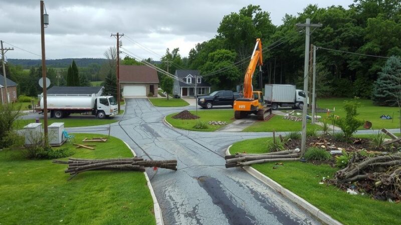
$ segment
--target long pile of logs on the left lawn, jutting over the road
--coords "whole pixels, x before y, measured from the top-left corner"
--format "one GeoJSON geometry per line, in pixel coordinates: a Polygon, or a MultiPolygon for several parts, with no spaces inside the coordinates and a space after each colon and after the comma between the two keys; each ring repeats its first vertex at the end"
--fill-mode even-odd
{"type": "Polygon", "coordinates": [[[177,160],[144,160],[141,157],[107,159],[68,158],[68,161],[53,160],[53,162],[68,164],[65,172],[69,172],[71,175],[91,170],[145,171],[145,167],[177,170],[177,160]]]}

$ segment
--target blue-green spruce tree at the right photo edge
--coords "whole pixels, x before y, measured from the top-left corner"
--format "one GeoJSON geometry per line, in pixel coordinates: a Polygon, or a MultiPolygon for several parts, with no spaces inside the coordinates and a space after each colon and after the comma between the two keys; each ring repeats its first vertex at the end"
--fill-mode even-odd
{"type": "Polygon", "coordinates": [[[377,105],[400,106],[401,57],[389,57],[378,75],[373,88],[373,103],[377,105]]]}

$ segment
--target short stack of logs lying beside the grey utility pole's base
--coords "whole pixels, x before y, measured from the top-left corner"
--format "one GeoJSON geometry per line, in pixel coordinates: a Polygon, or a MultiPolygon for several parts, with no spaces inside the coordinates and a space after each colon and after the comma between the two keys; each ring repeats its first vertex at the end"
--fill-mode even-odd
{"type": "Polygon", "coordinates": [[[226,168],[251,165],[256,163],[264,163],[269,161],[290,161],[298,160],[301,156],[299,149],[277,151],[262,154],[252,153],[235,153],[234,155],[226,155],[226,168]]]}

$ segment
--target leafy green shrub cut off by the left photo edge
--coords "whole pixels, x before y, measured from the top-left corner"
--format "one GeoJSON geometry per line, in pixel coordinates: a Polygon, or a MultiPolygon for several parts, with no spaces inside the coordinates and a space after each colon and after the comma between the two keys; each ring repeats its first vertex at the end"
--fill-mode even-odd
{"type": "Polygon", "coordinates": [[[1,104],[0,105],[0,148],[8,147],[3,142],[6,134],[13,129],[13,122],[21,115],[21,105],[1,104]]]}

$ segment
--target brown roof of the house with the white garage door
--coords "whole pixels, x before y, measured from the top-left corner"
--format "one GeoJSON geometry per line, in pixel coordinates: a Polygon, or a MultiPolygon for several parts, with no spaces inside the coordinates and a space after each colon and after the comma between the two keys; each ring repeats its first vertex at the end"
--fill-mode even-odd
{"type": "Polygon", "coordinates": [[[120,82],[158,83],[157,71],[147,65],[120,65],[120,82]]]}

